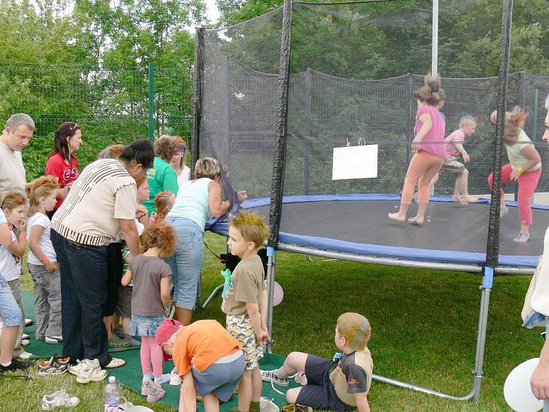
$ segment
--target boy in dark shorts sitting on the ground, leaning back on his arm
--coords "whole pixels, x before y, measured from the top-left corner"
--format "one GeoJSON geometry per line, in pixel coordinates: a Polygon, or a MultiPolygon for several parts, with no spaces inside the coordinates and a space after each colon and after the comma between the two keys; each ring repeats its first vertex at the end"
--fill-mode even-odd
{"type": "Polygon", "coordinates": [[[344,313],[338,318],[334,338],[343,352],[338,361],[335,360],[337,356],[332,360],[292,352],[280,369],[261,371],[261,377],[267,382],[288,386],[289,376],[305,371],[306,385],[286,392],[290,404],[340,412],[353,409],[369,412],[366,396],[372,382],[373,361],[366,345],[370,336],[368,319],[362,314],[344,313]]]}

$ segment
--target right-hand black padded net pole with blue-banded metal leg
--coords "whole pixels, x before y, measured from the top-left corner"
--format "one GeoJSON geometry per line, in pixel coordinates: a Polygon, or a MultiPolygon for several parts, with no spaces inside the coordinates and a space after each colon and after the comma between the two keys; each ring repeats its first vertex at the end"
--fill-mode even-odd
{"type": "Polygon", "coordinates": [[[502,186],[502,149],[505,128],[505,113],[507,100],[507,84],[509,80],[509,55],[511,54],[511,17],[513,0],[504,0],[502,14],[502,45],[500,50],[500,70],[498,84],[498,121],[495,125],[495,141],[493,150],[493,185],[490,202],[490,217],[488,224],[488,242],[486,247],[486,266],[480,286],[480,311],[478,314],[478,332],[474,367],[475,404],[480,402],[480,386],[482,384],[482,366],[484,363],[484,343],[488,323],[490,291],[493,284],[494,267],[498,265],[500,240],[500,201],[502,186]]]}

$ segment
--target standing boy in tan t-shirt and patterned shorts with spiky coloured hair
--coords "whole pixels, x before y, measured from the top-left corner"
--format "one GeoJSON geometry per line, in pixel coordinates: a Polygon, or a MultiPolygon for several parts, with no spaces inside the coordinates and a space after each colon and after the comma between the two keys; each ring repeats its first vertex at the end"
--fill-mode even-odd
{"type": "Polygon", "coordinates": [[[265,272],[257,248],[268,236],[268,227],[254,213],[242,212],[231,220],[229,249],[241,258],[231,279],[226,279],[221,309],[227,315],[226,328],[242,345],[246,363],[238,384],[238,407],[231,412],[259,412],[263,341],[270,339],[266,327],[267,293],[265,272]]]}

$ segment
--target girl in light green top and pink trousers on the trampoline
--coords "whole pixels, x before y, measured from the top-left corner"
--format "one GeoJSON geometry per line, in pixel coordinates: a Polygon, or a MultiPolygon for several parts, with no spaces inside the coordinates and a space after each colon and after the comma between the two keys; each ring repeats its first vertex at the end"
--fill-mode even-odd
{"type": "MultiPolygon", "coordinates": [[[[517,181],[518,185],[518,209],[520,220],[520,233],[513,239],[514,242],[527,242],[530,239],[530,226],[532,225],[532,209],[530,198],[534,194],[539,176],[541,176],[541,158],[532,141],[524,133],[522,127],[528,117],[528,112],[519,106],[505,116],[505,150],[509,162],[502,167],[502,185],[510,181],[517,181]]],[[[497,119],[494,111],[490,116],[492,123],[497,119]]],[[[488,183],[492,187],[493,174],[488,177],[488,183]]],[[[504,192],[502,190],[500,216],[509,212],[505,205],[504,192]]]]}

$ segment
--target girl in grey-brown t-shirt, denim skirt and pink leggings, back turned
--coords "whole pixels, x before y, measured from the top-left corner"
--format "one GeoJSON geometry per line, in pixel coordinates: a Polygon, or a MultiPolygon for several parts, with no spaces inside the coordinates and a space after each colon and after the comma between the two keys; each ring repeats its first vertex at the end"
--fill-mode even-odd
{"type": "Polygon", "coordinates": [[[145,253],[132,258],[121,283],[128,286],[133,279],[130,334],[141,336],[141,394],[148,396],[150,391],[154,392],[154,398],[147,398],[154,402],[165,394],[160,385],[170,381],[170,374],[162,374],[162,348],[155,335],[170,306],[172,270],[163,258],[174,254],[176,231],[166,223],[150,225],[143,231],[143,243],[145,253]]]}

